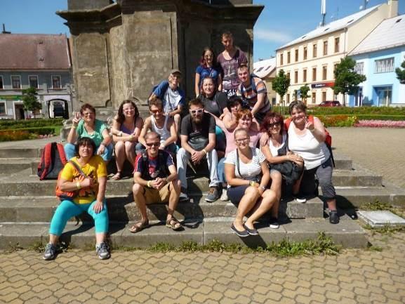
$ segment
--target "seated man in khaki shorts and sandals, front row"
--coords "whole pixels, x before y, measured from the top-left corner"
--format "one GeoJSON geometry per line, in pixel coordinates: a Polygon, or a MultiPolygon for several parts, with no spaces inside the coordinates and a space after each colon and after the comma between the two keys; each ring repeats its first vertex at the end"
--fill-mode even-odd
{"type": "Polygon", "coordinates": [[[135,159],[132,188],[133,200],[140,211],[141,220],[135,223],[130,232],[136,233],[149,227],[146,204],[168,202],[166,226],[172,230],[182,230],[182,225],[173,216],[180,197],[180,180],[171,154],[159,150],[160,136],[156,132],[145,135],[146,151],[135,159]]]}

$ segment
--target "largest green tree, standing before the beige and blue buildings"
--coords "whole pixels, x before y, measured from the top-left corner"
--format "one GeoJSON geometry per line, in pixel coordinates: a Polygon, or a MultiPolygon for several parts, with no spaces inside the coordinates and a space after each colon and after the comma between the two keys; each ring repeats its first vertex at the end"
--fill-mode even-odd
{"type": "Polygon", "coordinates": [[[335,94],[343,94],[343,106],[346,105],[346,93],[354,95],[359,91],[359,84],[366,81],[364,75],[358,74],[354,67],[356,61],[350,57],[340,59],[340,63],[336,65],[334,71],[335,74],[335,86],[333,86],[333,92],[335,94]]]}

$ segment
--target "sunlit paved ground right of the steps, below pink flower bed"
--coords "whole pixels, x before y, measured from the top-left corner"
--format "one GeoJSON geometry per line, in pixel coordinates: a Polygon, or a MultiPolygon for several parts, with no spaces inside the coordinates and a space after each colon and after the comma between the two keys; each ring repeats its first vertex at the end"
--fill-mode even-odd
{"type": "Polygon", "coordinates": [[[405,188],[405,128],[328,128],[337,152],[405,188]]]}

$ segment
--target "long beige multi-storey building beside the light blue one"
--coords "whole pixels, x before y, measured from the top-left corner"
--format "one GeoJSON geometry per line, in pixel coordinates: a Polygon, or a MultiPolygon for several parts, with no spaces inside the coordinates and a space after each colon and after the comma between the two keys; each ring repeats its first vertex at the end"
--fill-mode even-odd
{"type": "MultiPolygon", "coordinates": [[[[317,105],[325,100],[339,100],[333,89],[335,66],[350,53],[380,22],[398,14],[398,0],[373,6],[340,20],[318,27],[277,49],[277,74],[284,70],[291,79],[284,100],[294,100],[301,86],[310,86],[307,105],[317,105]]],[[[277,95],[277,104],[281,102],[277,95]]]]}

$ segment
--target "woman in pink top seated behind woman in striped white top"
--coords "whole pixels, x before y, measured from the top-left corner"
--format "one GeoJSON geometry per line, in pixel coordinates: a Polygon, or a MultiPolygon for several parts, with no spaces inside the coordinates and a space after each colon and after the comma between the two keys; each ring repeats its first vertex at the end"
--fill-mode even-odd
{"type": "MultiPolygon", "coordinates": [[[[260,139],[261,133],[258,132],[258,124],[257,122],[253,121],[253,115],[251,113],[251,111],[247,110],[247,109],[242,109],[239,110],[239,112],[237,112],[236,115],[236,121],[237,121],[237,127],[234,128],[233,130],[228,130],[227,128],[225,128],[225,125],[223,123],[223,121],[221,121],[220,119],[215,119],[216,120],[216,124],[217,126],[219,126],[225,133],[225,137],[227,139],[227,147],[225,150],[225,157],[227,156],[227,154],[233,150],[235,150],[237,148],[237,146],[235,145],[235,140],[234,140],[234,131],[238,128],[245,128],[246,130],[249,131],[248,136],[250,137],[250,143],[249,145],[251,147],[256,147],[256,145],[258,144],[258,141],[260,139]]],[[[224,170],[225,170],[225,157],[223,157],[223,159],[220,159],[220,161],[218,161],[218,178],[220,180],[221,183],[223,183],[223,194],[220,197],[221,201],[227,201],[228,197],[227,197],[227,190],[226,190],[226,181],[225,181],[225,174],[224,174],[224,170]]]]}

